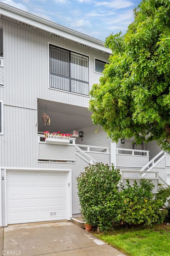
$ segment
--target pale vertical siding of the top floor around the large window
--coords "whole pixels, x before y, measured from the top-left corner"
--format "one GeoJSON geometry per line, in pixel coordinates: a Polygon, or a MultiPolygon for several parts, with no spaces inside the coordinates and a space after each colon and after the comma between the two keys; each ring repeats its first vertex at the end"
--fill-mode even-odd
{"type": "Polygon", "coordinates": [[[5,103],[36,107],[37,98],[88,107],[89,97],[49,89],[49,45],[56,44],[80,54],[89,55],[90,88],[98,83],[94,73],[94,57],[103,60],[108,55],[61,41],[10,22],[2,21],[4,32],[4,82],[0,95],[5,103]],[[10,74],[10,75],[9,75],[10,74]]]}

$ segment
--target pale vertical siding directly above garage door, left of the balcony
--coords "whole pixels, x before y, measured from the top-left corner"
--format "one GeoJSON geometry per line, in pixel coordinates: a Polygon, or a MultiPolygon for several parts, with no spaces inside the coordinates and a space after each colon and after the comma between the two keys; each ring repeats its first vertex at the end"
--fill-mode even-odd
{"type": "Polygon", "coordinates": [[[0,166],[37,166],[36,122],[36,110],[4,105],[4,135],[0,135],[0,166]]]}

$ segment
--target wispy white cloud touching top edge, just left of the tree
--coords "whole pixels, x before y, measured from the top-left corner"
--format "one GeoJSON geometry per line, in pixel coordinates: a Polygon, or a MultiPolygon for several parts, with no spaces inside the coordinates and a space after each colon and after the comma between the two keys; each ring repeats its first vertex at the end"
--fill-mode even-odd
{"type": "Polygon", "coordinates": [[[96,5],[113,8],[114,10],[119,10],[119,9],[123,9],[123,8],[128,8],[134,4],[131,1],[127,1],[127,0],[119,0],[119,1],[112,0],[112,1],[96,2],[96,5]]]}

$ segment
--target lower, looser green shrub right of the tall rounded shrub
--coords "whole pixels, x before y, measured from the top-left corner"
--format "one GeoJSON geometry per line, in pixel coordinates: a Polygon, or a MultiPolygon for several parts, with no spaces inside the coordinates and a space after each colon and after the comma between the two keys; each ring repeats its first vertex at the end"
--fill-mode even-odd
{"type": "Polygon", "coordinates": [[[164,214],[160,209],[163,206],[163,201],[161,199],[154,200],[152,181],[142,179],[141,186],[138,186],[135,181],[133,187],[127,181],[126,186],[120,192],[124,202],[121,211],[121,223],[130,225],[162,223],[164,214]]]}

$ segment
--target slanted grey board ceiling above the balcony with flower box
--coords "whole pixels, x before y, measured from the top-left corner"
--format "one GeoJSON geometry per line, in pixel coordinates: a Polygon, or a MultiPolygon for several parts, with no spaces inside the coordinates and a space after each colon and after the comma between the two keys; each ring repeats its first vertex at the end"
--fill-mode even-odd
{"type": "Polygon", "coordinates": [[[38,132],[68,133],[93,126],[92,112],[85,107],[73,106],[65,103],[38,99],[38,132]],[[42,114],[46,113],[51,120],[50,126],[44,125],[42,114]]]}

